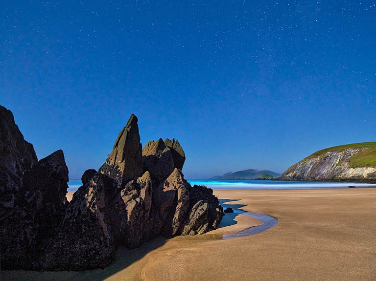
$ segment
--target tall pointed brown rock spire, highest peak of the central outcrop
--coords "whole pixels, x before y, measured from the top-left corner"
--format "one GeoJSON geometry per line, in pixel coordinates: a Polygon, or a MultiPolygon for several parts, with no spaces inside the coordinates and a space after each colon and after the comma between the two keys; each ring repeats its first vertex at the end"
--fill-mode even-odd
{"type": "Polygon", "coordinates": [[[142,146],[137,122],[137,117],[132,114],[127,126],[120,131],[106,163],[98,171],[115,179],[119,187],[142,175],[142,146]]]}

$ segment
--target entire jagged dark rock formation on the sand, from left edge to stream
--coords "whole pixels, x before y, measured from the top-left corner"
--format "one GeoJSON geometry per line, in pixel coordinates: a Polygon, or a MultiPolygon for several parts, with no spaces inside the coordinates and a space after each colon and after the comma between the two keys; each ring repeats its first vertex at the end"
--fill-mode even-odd
{"type": "Polygon", "coordinates": [[[184,179],[185,154],[177,140],[151,141],[142,150],[133,114],[106,162],[98,172],[82,175],[83,185],[68,203],[63,151],[36,162],[10,116],[1,123],[1,149],[8,151],[1,176],[12,179],[1,192],[14,197],[1,210],[2,268],[103,268],[120,245],[137,247],[159,235],[202,234],[215,229],[223,216],[211,189],[192,187],[184,179]],[[3,137],[3,131],[13,135],[3,137]]]}

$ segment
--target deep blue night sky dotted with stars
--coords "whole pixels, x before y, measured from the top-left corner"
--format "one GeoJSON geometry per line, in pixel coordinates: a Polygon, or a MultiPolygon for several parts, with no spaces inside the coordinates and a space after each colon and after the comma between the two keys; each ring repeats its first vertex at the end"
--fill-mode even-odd
{"type": "Polygon", "coordinates": [[[0,104],[70,178],[131,113],[188,179],[376,141],[376,1],[5,1],[0,104]]]}

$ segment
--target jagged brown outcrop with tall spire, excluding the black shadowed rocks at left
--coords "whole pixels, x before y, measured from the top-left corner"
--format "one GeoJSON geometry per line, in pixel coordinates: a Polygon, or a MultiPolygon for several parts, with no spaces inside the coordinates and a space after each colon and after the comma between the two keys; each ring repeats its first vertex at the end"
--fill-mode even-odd
{"type": "Polygon", "coordinates": [[[138,132],[137,126],[137,119],[132,115],[106,163],[97,173],[88,170],[82,176],[84,185],[73,195],[60,235],[50,243],[52,246],[48,251],[64,253],[65,262],[59,263],[50,258],[56,255],[50,255],[45,260],[47,269],[104,267],[118,245],[133,248],[159,235],[194,235],[216,228],[223,216],[222,207],[211,189],[192,187],[184,179],[178,167],[184,164],[185,154],[177,141],[148,142],[142,150],[143,174],[134,173],[127,180],[119,177],[125,172],[117,170],[118,167],[129,167],[132,163],[140,165],[139,161],[134,161],[138,153],[132,151],[132,148],[139,150],[140,138],[133,135],[132,141],[128,141],[131,134],[124,136],[123,133],[138,132]],[[121,138],[124,140],[120,142],[121,138]],[[172,150],[179,156],[174,158],[172,150]],[[117,161],[113,160],[119,151],[128,151],[120,154],[131,155],[122,157],[121,165],[114,164],[117,161]],[[74,234],[71,234],[72,230],[74,234]],[[82,238],[85,233],[90,233],[91,238],[82,238]],[[62,238],[67,236],[71,238],[68,242],[62,238]],[[70,248],[73,241],[80,246],[70,248]],[[74,249],[81,250],[76,253],[74,249]],[[84,251],[87,249],[93,256],[84,251]]]}

